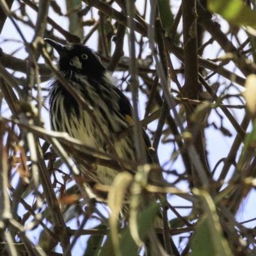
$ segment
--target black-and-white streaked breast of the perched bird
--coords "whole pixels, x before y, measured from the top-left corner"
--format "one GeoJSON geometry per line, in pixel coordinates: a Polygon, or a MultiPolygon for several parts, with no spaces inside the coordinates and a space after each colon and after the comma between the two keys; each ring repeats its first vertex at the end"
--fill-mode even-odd
{"type": "Polygon", "coordinates": [[[51,128],[54,131],[67,132],[90,147],[104,147],[106,136],[115,141],[118,132],[129,126],[124,116],[120,115],[115,95],[109,93],[104,87],[99,89],[95,84],[92,86],[86,79],[70,84],[93,109],[93,113],[83,109],[77,100],[56,81],[50,93],[51,128]]]}

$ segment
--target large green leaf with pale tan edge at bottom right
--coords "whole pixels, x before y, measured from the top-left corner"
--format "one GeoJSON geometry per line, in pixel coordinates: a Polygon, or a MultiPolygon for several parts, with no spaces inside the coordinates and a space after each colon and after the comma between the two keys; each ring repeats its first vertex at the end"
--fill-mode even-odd
{"type": "Polygon", "coordinates": [[[201,200],[204,214],[196,223],[196,230],[191,239],[193,256],[232,256],[227,240],[223,237],[219,216],[211,196],[207,191],[193,189],[193,192],[201,200]]]}

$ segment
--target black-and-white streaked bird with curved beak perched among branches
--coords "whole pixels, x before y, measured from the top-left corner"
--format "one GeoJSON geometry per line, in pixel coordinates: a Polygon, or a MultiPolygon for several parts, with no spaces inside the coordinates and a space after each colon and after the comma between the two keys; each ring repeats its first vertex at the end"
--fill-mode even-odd
{"type": "MultiPolygon", "coordinates": [[[[58,70],[68,84],[93,109],[94,116],[92,118],[58,78],[53,77],[49,92],[51,129],[67,132],[72,138],[83,141],[84,144],[99,152],[116,154],[122,159],[136,161],[133,136],[118,139],[118,134],[133,124],[131,103],[116,86],[115,80],[102,65],[97,52],[83,44],[61,45],[49,38],[44,40],[60,55],[58,70]],[[109,145],[109,141],[112,145],[109,145]]],[[[147,161],[153,163],[148,150],[152,147],[150,138],[144,129],[141,132],[147,161]]],[[[98,165],[95,172],[91,173],[88,166],[78,165],[81,172],[92,177],[95,182],[107,186],[111,186],[118,174],[117,170],[106,166],[98,165]]],[[[132,166],[125,165],[125,168],[132,168],[132,166]]]]}

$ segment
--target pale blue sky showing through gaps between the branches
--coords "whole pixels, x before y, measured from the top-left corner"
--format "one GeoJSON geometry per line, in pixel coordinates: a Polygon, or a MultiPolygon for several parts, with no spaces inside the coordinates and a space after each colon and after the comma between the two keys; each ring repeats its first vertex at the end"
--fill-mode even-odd
{"type": "MultiPolygon", "coordinates": [[[[63,1],[58,1],[58,3],[63,3],[63,1]]],[[[177,3],[177,6],[179,5],[179,1],[176,1],[175,3],[177,3]]],[[[149,4],[148,4],[149,6],[149,4]]],[[[17,3],[15,2],[15,4],[13,5],[13,10],[15,10],[17,8],[17,3]]],[[[176,7],[173,7],[176,8],[176,7]]],[[[65,6],[62,6],[62,11],[63,13],[65,13],[65,6]]],[[[97,11],[95,11],[94,13],[97,13],[97,11]]],[[[33,12],[33,10],[31,10],[31,12],[29,12],[30,18],[31,20],[33,20],[33,22],[35,22],[36,20],[36,13],[33,12]]],[[[67,18],[63,18],[63,17],[59,17],[58,15],[56,15],[54,12],[52,12],[51,8],[50,8],[50,17],[52,17],[52,19],[54,19],[56,22],[58,22],[58,24],[61,24],[61,26],[63,28],[68,29],[68,19],[67,18]]],[[[19,23],[20,25],[20,23],[19,23]]],[[[221,22],[221,26],[222,28],[228,29],[227,23],[226,22],[221,22]]],[[[26,36],[26,40],[28,40],[28,42],[31,42],[32,38],[33,38],[33,31],[30,28],[27,28],[25,26],[20,25],[20,28],[22,29],[22,33],[24,33],[24,35],[26,36]]],[[[50,27],[49,27],[50,28],[50,27]]],[[[181,29],[181,27],[179,28],[181,29]]],[[[90,28],[85,27],[85,31],[84,33],[88,33],[88,31],[90,30],[90,28]]],[[[56,33],[56,35],[58,35],[58,32],[55,31],[54,33],[56,33]]],[[[58,35],[61,36],[61,35],[58,35]]],[[[239,38],[241,39],[241,42],[243,42],[243,38],[246,38],[246,34],[243,32],[239,33],[239,38]]],[[[209,35],[205,35],[205,41],[209,39],[209,35]]],[[[4,26],[3,29],[3,33],[1,34],[0,37],[0,47],[3,49],[4,52],[11,54],[14,51],[17,51],[20,47],[20,50],[18,50],[14,55],[17,56],[18,58],[26,58],[27,53],[26,51],[24,51],[24,47],[22,47],[22,42],[17,42],[17,41],[12,41],[12,40],[21,40],[20,36],[17,34],[17,32],[15,31],[15,28],[13,27],[13,24],[10,22],[10,20],[6,21],[6,24],[4,26]],[[8,40],[10,39],[10,41],[8,40]],[[4,42],[4,40],[8,40],[7,42],[4,42]]],[[[94,35],[92,36],[92,38],[90,38],[90,40],[88,40],[87,45],[90,46],[92,49],[95,49],[96,45],[95,42],[97,42],[97,33],[94,33],[94,35]]],[[[113,49],[114,49],[115,45],[113,43],[113,49]]],[[[127,40],[125,40],[125,56],[129,56],[129,47],[128,47],[128,42],[127,40]]],[[[97,49],[95,49],[97,50],[97,49]]],[[[147,49],[145,52],[143,52],[144,56],[147,56],[150,53],[150,50],[147,49]]],[[[216,43],[210,45],[210,47],[207,47],[205,49],[204,52],[204,57],[205,58],[216,58],[216,56],[223,56],[224,52],[218,52],[218,45],[216,45],[216,43]]],[[[179,68],[180,67],[180,63],[179,61],[177,61],[175,59],[174,56],[171,56],[172,61],[175,65],[175,68],[179,68]]],[[[43,61],[42,59],[40,59],[40,61],[43,61]]],[[[152,66],[152,68],[154,68],[154,66],[152,66]]],[[[230,70],[233,70],[234,67],[232,67],[232,65],[228,65],[227,68],[230,68],[230,70]]],[[[241,75],[239,71],[236,71],[237,74],[241,75]]],[[[24,74],[22,74],[22,76],[24,76],[24,74]]],[[[118,72],[114,72],[113,76],[115,77],[120,77],[120,74],[118,74],[118,72]]],[[[182,81],[181,77],[179,76],[180,79],[180,84],[183,84],[184,81],[182,81]]],[[[216,80],[218,79],[218,75],[215,75],[211,78],[210,82],[214,83],[216,80]]],[[[222,79],[223,81],[223,79],[222,79]]],[[[227,83],[227,85],[230,84],[230,81],[225,81],[227,83]]],[[[172,83],[173,86],[173,83],[172,83]]],[[[237,88],[239,89],[239,86],[236,87],[232,87],[230,88],[230,90],[228,91],[228,93],[237,93],[237,88]]],[[[224,90],[224,86],[222,86],[220,88],[220,90],[224,90]]],[[[127,95],[128,97],[130,97],[131,95],[127,95]]],[[[143,97],[143,95],[140,95],[140,116],[143,117],[144,116],[144,109],[145,109],[145,99],[143,97]]],[[[226,101],[227,102],[227,101],[226,101]]],[[[241,104],[241,102],[239,102],[236,99],[232,99],[231,102],[229,102],[229,104],[237,104],[237,102],[239,104],[241,104]]],[[[8,116],[10,115],[10,112],[6,110],[6,106],[4,108],[1,109],[2,113],[1,115],[4,116],[8,116]]],[[[221,113],[221,111],[220,111],[221,113]]],[[[223,115],[223,114],[221,114],[223,115]]],[[[243,115],[244,115],[244,111],[243,110],[234,110],[234,115],[237,118],[238,122],[241,122],[243,115]]],[[[42,117],[44,118],[44,122],[45,122],[45,128],[46,129],[50,129],[50,125],[49,125],[49,116],[47,111],[43,110],[42,111],[42,117]]],[[[211,124],[212,122],[214,122],[217,126],[220,126],[220,118],[216,115],[216,113],[214,113],[214,111],[212,111],[211,115],[209,116],[209,123],[211,124]]],[[[214,127],[210,126],[209,128],[205,129],[205,136],[207,138],[207,152],[209,154],[209,163],[210,163],[210,167],[211,170],[212,168],[214,168],[215,164],[219,161],[219,159],[221,159],[222,157],[227,156],[228,151],[230,150],[230,147],[232,145],[232,142],[234,141],[234,138],[236,136],[236,131],[234,130],[233,127],[231,127],[229,121],[224,118],[223,120],[223,125],[224,127],[226,127],[228,130],[230,130],[232,137],[228,138],[223,136],[223,134],[221,134],[221,132],[219,130],[214,129],[214,127]]],[[[156,129],[156,122],[150,124],[148,127],[150,127],[150,129],[156,129]]],[[[180,161],[180,157],[178,157],[177,161],[170,161],[170,157],[171,157],[171,152],[172,152],[172,146],[170,146],[169,144],[163,144],[161,143],[161,145],[159,146],[159,150],[158,150],[158,155],[159,155],[159,159],[161,161],[161,164],[163,164],[164,168],[166,170],[177,170],[177,172],[179,173],[183,173],[184,172],[184,166],[182,164],[182,161],[180,161]],[[166,164],[168,163],[168,164],[166,164]]],[[[216,171],[216,175],[218,175],[218,173],[221,170],[221,167],[223,165],[220,164],[219,168],[217,168],[216,171]]],[[[65,169],[64,169],[65,170],[65,169]]],[[[230,175],[232,174],[232,171],[230,171],[230,175]]],[[[172,182],[172,180],[174,179],[174,177],[169,176],[168,180],[170,182],[172,182]]],[[[187,189],[188,188],[188,184],[186,184],[186,182],[180,182],[180,184],[178,184],[178,187],[181,189],[187,189]]],[[[243,211],[239,211],[239,213],[237,214],[237,220],[239,221],[244,221],[244,220],[248,220],[251,218],[255,218],[255,212],[256,212],[256,204],[255,204],[255,191],[253,190],[252,193],[250,193],[250,195],[248,196],[248,198],[244,201],[244,208],[243,211]]],[[[186,202],[186,200],[183,200],[182,198],[179,198],[179,196],[170,196],[170,202],[172,203],[172,205],[191,205],[189,202],[186,202]]],[[[22,211],[22,209],[20,209],[20,211],[22,211]]],[[[178,210],[180,212],[180,214],[182,216],[186,216],[189,214],[190,210],[189,209],[179,209],[178,210]]],[[[170,219],[175,218],[175,215],[170,212],[170,219]]],[[[92,225],[92,223],[90,223],[90,225],[92,225]]],[[[248,224],[246,224],[247,227],[254,227],[256,225],[256,221],[250,222],[248,224]]],[[[79,244],[79,243],[77,243],[79,244]]],[[[79,245],[78,245],[79,246],[79,245]]],[[[84,246],[84,244],[82,243],[81,246],[84,246]]],[[[78,256],[78,255],[77,255],[78,256]]]]}

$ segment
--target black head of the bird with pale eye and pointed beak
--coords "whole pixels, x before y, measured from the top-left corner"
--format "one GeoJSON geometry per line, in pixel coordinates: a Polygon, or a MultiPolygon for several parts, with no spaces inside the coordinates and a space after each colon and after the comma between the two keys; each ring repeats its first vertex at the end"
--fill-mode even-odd
{"type": "Polygon", "coordinates": [[[60,55],[58,67],[61,72],[77,72],[88,77],[103,76],[106,68],[100,62],[99,56],[92,49],[82,44],[58,44],[49,38],[44,39],[60,55]]]}

